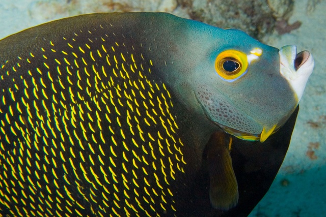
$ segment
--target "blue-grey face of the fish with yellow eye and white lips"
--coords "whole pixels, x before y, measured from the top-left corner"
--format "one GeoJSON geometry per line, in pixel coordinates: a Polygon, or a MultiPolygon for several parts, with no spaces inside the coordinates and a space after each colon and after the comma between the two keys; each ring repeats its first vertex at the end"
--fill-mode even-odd
{"type": "Polygon", "coordinates": [[[313,57],[308,51],[296,53],[293,45],[279,50],[240,30],[224,31],[199,69],[206,78],[198,82],[196,98],[225,132],[263,142],[297,107],[313,57]]]}

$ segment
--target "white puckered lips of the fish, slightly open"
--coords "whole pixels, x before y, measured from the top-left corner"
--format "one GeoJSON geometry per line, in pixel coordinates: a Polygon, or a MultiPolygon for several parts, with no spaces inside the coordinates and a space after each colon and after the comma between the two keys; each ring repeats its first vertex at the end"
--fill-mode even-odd
{"type": "Polygon", "coordinates": [[[290,83],[299,102],[314,68],[314,59],[308,51],[303,51],[297,55],[295,45],[282,47],[279,54],[280,73],[290,83]]]}

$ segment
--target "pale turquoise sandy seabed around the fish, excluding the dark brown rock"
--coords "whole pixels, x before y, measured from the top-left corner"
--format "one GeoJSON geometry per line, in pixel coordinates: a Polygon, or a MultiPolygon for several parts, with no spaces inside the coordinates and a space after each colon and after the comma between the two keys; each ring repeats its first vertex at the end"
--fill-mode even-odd
{"type": "MultiPolygon", "coordinates": [[[[0,38],[46,21],[98,11],[97,1],[85,0],[85,4],[73,10],[65,7],[67,2],[70,1],[0,0],[0,38]]],[[[146,5],[146,1],[140,2],[146,5]]],[[[156,11],[176,9],[176,14],[182,16],[176,1],[153,2],[156,11]]],[[[275,33],[267,44],[278,48],[294,44],[298,52],[310,51],[315,58],[315,69],[300,103],[284,163],[251,217],[326,216],[326,1],[296,0],[289,23],[297,20],[302,22],[300,28],[289,34],[275,33]],[[318,4],[307,12],[309,1],[318,4]]]]}

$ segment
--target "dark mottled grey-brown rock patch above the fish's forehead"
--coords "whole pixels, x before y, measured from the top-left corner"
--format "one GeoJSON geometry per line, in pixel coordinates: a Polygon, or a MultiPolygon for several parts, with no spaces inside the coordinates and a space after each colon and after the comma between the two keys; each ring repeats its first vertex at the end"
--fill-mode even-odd
{"type": "MultiPolygon", "coordinates": [[[[280,29],[278,20],[288,20],[293,10],[293,0],[178,0],[192,19],[221,28],[238,28],[254,38],[280,29]]],[[[295,29],[298,23],[286,25],[282,34],[295,29]]]]}

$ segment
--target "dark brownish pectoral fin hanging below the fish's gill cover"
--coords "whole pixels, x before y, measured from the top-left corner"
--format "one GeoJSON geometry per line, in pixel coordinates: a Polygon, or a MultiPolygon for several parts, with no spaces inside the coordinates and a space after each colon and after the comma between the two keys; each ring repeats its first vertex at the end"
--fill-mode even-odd
{"type": "Polygon", "coordinates": [[[229,143],[230,136],[216,132],[210,137],[205,150],[210,177],[209,198],[211,205],[220,210],[233,208],[239,199],[229,143]]]}

